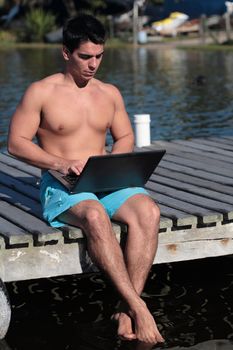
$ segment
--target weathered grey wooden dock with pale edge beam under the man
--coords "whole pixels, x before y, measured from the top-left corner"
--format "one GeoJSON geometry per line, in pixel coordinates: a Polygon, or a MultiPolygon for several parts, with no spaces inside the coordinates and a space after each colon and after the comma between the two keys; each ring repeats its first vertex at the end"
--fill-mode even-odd
{"type": "MultiPolygon", "coordinates": [[[[166,155],[146,184],[161,209],[154,263],[233,254],[233,137],[155,141],[166,155]]],[[[144,148],[145,149],[145,148],[144,148]]],[[[95,270],[80,229],[41,216],[40,170],[0,153],[0,339],[10,322],[4,282],[95,270]]],[[[113,223],[120,240],[127,227],[113,223]]]]}

